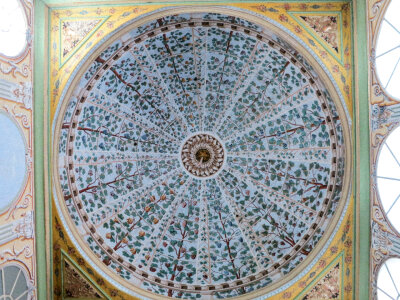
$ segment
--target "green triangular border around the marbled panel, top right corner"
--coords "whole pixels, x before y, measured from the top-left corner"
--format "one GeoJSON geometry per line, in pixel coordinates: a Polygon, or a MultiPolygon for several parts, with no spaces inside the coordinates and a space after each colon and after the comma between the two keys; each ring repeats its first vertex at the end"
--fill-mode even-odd
{"type": "Polygon", "coordinates": [[[342,22],[342,12],[341,11],[288,11],[287,12],[293,19],[299,23],[299,25],[307,31],[309,34],[311,34],[317,41],[318,43],[324,47],[326,51],[328,51],[336,60],[338,63],[340,63],[343,66],[343,22],[342,22]],[[340,53],[335,53],[335,51],[332,51],[333,49],[327,46],[327,42],[325,42],[320,36],[316,34],[316,32],[309,26],[306,26],[305,22],[299,18],[300,14],[303,15],[333,15],[337,14],[339,15],[339,24],[340,24],[340,53]]]}

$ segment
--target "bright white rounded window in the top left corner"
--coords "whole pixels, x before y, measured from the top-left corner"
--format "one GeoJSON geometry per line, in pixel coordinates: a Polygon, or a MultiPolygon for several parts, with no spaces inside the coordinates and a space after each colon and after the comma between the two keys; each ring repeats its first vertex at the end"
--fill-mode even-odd
{"type": "Polygon", "coordinates": [[[26,47],[28,25],[19,0],[0,1],[0,54],[18,56],[26,47]]]}

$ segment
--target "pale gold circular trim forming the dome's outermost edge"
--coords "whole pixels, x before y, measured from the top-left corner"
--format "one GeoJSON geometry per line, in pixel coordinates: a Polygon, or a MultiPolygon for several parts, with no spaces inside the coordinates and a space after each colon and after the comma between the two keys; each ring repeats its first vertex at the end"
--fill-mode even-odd
{"type": "MultiPolygon", "coordinates": [[[[73,81],[70,84],[70,87],[65,94],[64,99],[69,99],[74,92],[75,87],[79,83],[79,80],[81,78],[81,75],[87,70],[87,68],[90,66],[90,64],[95,60],[96,57],[100,55],[102,51],[104,51],[107,46],[111,45],[115,40],[117,40],[119,37],[123,36],[125,33],[129,32],[132,30],[132,28],[141,26],[149,21],[155,20],[157,18],[162,18],[171,14],[180,14],[180,13],[199,13],[199,12],[213,12],[213,13],[222,13],[222,14],[227,14],[227,15],[232,15],[238,18],[243,18],[245,20],[250,20],[251,22],[260,25],[261,27],[270,30],[274,34],[278,36],[283,36],[285,37],[286,41],[288,41],[291,46],[296,49],[299,53],[301,53],[308,61],[308,63],[316,70],[318,75],[321,78],[321,81],[325,84],[325,88],[328,90],[329,94],[332,96],[333,101],[336,105],[337,112],[339,114],[342,126],[343,126],[343,139],[344,139],[344,157],[346,161],[346,165],[344,168],[344,175],[343,175],[343,189],[342,189],[342,198],[339,202],[338,209],[335,212],[335,215],[333,216],[332,220],[330,221],[325,234],[322,236],[321,240],[318,242],[317,247],[312,250],[312,253],[318,253],[321,251],[321,248],[326,245],[327,241],[329,240],[330,236],[332,235],[334,228],[336,227],[339,218],[341,216],[341,213],[344,209],[344,206],[347,203],[347,199],[349,197],[349,192],[350,192],[350,182],[352,179],[352,141],[350,139],[351,137],[351,132],[349,128],[349,123],[346,117],[345,110],[343,108],[343,104],[340,101],[340,97],[338,93],[336,92],[336,89],[334,88],[331,80],[329,79],[328,75],[323,71],[322,67],[316,62],[314,57],[308,53],[306,49],[304,49],[303,46],[299,44],[294,38],[288,36],[286,33],[282,32],[281,29],[278,27],[270,24],[268,21],[263,19],[262,17],[255,16],[254,14],[251,14],[250,12],[244,12],[244,11],[238,11],[235,9],[227,8],[225,4],[221,5],[208,5],[208,6],[186,6],[186,7],[175,7],[173,9],[166,9],[161,12],[155,12],[151,13],[150,15],[147,15],[143,18],[141,18],[138,21],[133,22],[130,26],[127,28],[124,28],[117,33],[115,33],[110,39],[107,41],[107,43],[103,44],[99,49],[97,49],[94,53],[92,53],[89,57],[87,57],[86,61],[82,64],[79,72],[75,75],[73,81]]],[[[118,29],[117,29],[118,30],[118,29]]],[[[62,125],[62,116],[64,116],[64,112],[67,108],[67,101],[64,101],[64,103],[61,104],[57,120],[56,120],[56,126],[55,126],[55,131],[54,131],[54,141],[53,142],[53,150],[52,150],[52,157],[51,157],[51,163],[52,163],[52,178],[54,182],[57,182],[57,178],[59,178],[59,173],[58,173],[58,140],[61,132],[61,125],[62,125]]],[[[60,185],[56,185],[56,194],[58,199],[63,199],[60,185]]],[[[92,261],[91,263],[95,264],[102,272],[104,272],[107,276],[113,278],[118,284],[124,286],[128,290],[133,290],[134,292],[141,294],[145,297],[149,297],[151,299],[170,299],[168,297],[160,296],[145,290],[140,289],[139,287],[133,287],[132,285],[128,284],[127,281],[123,280],[122,278],[118,277],[114,272],[109,270],[108,268],[105,268],[105,266],[99,261],[98,257],[90,250],[90,248],[87,246],[86,243],[84,243],[81,238],[80,234],[75,228],[75,225],[69,218],[69,214],[67,211],[67,208],[65,207],[64,204],[60,203],[60,208],[62,211],[62,214],[64,216],[67,216],[65,218],[65,222],[67,223],[68,228],[71,230],[73,236],[77,240],[79,246],[85,251],[85,254],[90,258],[92,261]]],[[[265,288],[261,288],[259,290],[256,290],[254,292],[251,292],[249,294],[239,296],[239,297],[234,297],[231,299],[254,299],[255,297],[259,297],[262,295],[265,295],[266,293],[269,293],[282,285],[288,283],[292,279],[294,279],[301,271],[304,270],[306,266],[308,266],[311,261],[313,260],[312,254],[310,254],[303,262],[299,264],[294,270],[294,272],[291,272],[287,274],[282,280],[271,284],[265,288]]]]}

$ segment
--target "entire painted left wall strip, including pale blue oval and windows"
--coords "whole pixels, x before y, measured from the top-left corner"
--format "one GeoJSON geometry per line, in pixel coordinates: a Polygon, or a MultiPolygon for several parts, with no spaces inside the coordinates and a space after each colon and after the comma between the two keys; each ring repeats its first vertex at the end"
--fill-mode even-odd
{"type": "Polygon", "coordinates": [[[3,1],[0,7],[0,296],[36,299],[33,3],[3,1]]]}

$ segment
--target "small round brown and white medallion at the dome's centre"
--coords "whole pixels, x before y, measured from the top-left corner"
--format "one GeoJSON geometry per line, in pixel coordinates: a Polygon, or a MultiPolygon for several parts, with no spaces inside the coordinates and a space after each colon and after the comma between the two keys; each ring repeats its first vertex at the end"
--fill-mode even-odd
{"type": "Polygon", "coordinates": [[[224,148],[221,142],[207,133],[191,136],[181,150],[182,164],[196,177],[210,177],[216,174],[224,163],[224,148]]]}

